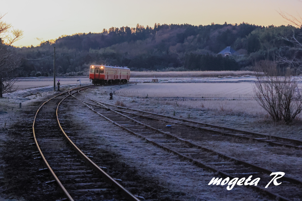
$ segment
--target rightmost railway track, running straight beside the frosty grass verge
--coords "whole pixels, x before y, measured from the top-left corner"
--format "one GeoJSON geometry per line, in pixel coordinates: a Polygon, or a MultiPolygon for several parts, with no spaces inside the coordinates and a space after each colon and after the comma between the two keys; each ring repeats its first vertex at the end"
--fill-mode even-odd
{"type": "MultiPolygon", "coordinates": [[[[94,102],[97,102],[93,100],[94,102]]],[[[170,117],[166,115],[160,115],[152,112],[147,112],[147,111],[142,111],[142,110],[137,110],[133,108],[126,108],[126,107],[120,107],[104,102],[99,102],[104,105],[108,105],[108,107],[111,107],[115,111],[118,111],[123,114],[129,114],[129,115],[137,115],[141,118],[146,118],[150,120],[156,120],[156,121],[164,121],[166,123],[173,124],[174,126],[179,126],[179,127],[189,127],[189,128],[194,128],[202,131],[207,131],[210,133],[215,133],[218,134],[220,137],[223,136],[229,136],[233,138],[238,138],[238,139],[243,139],[243,140],[252,140],[256,142],[261,142],[261,143],[267,143],[268,145],[271,146],[284,146],[288,148],[294,148],[294,149],[302,149],[302,141],[300,140],[294,140],[294,139],[289,139],[289,138],[284,138],[284,137],[277,137],[277,136],[272,136],[272,135],[265,135],[265,134],[260,134],[260,133],[253,133],[253,132],[248,132],[244,130],[237,130],[233,128],[227,128],[227,127],[222,127],[222,126],[217,126],[217,125],[211,125],[211,124],[206,124],[198,121],[191,121],[187,119],[181,119],[181,118],[175,118],[175,117],[170,117]],[[120,108],[123,110],[119,110],[116,108],[120,108]],[[127,111],[128,110],[128,111],[127,111]],[[129,110],[134,111],[134,112],[129,112],[129,110]],[[175,121],[172,121],[175,120],[175,121]]],[[[214,135],[217,138],[217,135],[214,135]]]]}

